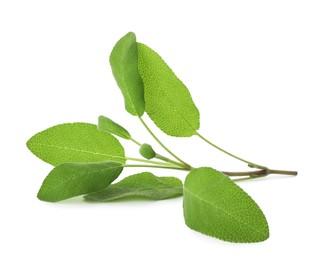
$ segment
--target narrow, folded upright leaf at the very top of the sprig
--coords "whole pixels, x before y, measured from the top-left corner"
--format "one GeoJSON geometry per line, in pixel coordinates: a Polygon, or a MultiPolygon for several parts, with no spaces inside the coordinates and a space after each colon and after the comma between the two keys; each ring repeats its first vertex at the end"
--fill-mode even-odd
{"type": "Polygon", "coordinates": [[[123,94],[126,110],[132,115],[142,116],[145,112],[144,87],[138,72],[134,33],[127,33],[116,43],[110,55],[110,65],[123,94]]]}

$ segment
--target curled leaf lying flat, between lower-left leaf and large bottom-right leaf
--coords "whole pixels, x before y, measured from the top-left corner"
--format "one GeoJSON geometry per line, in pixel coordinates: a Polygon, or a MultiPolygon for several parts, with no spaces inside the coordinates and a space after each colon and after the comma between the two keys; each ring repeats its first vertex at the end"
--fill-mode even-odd
{"type": "Polygon", "coordinates": [[[95,201],[111,201],[127,197],[164,200],[182,194],[183,184],[181,180],[175,177],[157,177],[152,173],[142,172],[112,184],[105,190],[88,194],[84,198],[95,201]]]}

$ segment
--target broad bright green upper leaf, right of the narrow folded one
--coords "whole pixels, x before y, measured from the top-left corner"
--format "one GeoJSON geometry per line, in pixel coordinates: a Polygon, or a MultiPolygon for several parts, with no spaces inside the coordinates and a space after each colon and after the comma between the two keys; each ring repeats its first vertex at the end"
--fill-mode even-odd
{"type": "Polygon", "coordinates": [[[200,127],[200,114],[186,86],[155,51],[141,43],[138,68],[151,120],[168,135],[194,135],[200,127]]]}

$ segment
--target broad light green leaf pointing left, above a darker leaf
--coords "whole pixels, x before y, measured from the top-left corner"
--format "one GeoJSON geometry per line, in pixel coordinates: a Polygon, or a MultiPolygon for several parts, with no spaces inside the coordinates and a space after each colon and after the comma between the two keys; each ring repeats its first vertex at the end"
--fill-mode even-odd
{"type": "Polygon", "coordinates": [[[112,135],[96,125],[68,123],[50,127],[27,142],[29,150],[52,165],[64,162],[116,161],[124,163],[124,149],[112,135]]]}

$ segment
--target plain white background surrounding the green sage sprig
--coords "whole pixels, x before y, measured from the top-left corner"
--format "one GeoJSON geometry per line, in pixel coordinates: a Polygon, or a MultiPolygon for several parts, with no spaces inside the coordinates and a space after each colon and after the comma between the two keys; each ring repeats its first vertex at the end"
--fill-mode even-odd
{"type": "MultiPolygon", "coordinates": [[[[320,259],[322,13],[322,1],[1,1],[0,258],[320,259]],[[256,163],[299,171],[240,183],[268,219],[267,241],[232,244],[191,231],[181,198],[106,204],[36,198],[51,170],[25,146],[38,131],[96,123],[104,114],[153,143],[123,109],[108,64],[128,31],[188,86],[201,133],[256,163]]],[[[156,133],[194,166],[246,169],[196,137],[156,133]]]]}

